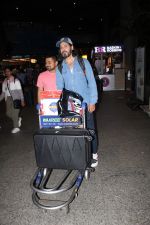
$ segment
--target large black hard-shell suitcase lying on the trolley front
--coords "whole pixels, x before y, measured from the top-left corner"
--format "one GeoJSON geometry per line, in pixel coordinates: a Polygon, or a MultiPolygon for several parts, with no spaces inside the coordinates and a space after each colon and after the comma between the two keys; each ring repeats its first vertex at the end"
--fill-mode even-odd
{"type": "Polygon", "coordinates": [[[90,166],[92,137],[86,129],[41,129],[33,138],[40,168],[85,170],[90,166]]]}

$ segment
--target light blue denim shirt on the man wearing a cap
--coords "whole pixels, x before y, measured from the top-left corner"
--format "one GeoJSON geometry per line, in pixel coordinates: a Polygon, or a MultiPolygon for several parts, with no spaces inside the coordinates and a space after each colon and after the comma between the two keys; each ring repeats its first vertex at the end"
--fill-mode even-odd
{"type": "Polygon", "coordinates": [[[77,92],[83,97],[83,101],[87,104],[95,104],[98,99],[97,85],[93,74],[92,67],[87,59],[83,59],[85,64],[84,74],[81,66],[75,57],[73,64],[73,71],[71,72],[69,66],[65,62],[62,63],[62,74],[56,69],[56,84],[57,89],[77,92]]]}

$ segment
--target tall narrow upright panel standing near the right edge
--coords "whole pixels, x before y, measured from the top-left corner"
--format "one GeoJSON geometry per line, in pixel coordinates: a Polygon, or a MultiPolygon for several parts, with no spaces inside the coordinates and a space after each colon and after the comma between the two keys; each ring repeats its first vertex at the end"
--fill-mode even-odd
{"type": "Polygon", "coordinates": [[[144,69],[145,68],[145,48],[136,49],[135,76],[136,76],[136,97],[144,101],[144,69]]]}

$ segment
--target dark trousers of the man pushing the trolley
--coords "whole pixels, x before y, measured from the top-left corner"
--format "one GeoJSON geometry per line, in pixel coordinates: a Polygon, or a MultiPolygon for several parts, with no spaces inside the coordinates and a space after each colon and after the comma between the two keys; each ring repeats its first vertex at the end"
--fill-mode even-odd
{"type": "Polygon", "coordinates": [[[86,127],[87,129],[94,130],[93,140],[92,140],[92,153],[97,153],[97,135],[95,131],[94,114],[86,112],[86,127]]]}

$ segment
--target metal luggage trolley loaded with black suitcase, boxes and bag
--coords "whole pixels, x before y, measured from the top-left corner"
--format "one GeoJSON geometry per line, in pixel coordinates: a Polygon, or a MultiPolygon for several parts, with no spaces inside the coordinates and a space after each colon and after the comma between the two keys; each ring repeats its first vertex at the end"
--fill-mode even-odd
{"type": "Polygon", "coordinates": [[[90,167],[92,132],[85,128],[85,110],[82,97],[77,93],[43,92],[41,98],[40,129],[33,138],[38,169],[30,184],[32,200],[40,208],[66,208],[68,213],[83,179],[88,180],[90,172],[94,171],[90,167]],[[49,113],[48,108],[52,113],[45,115],[49,113]],[[53,187],[48,187],[56,170],[65,170],[65,174],[53,187]],[[57,199],[64,192],[69,193],[67,200],[57,199]],[[51,196],[55,198],[49,199],[51,196]]]}

